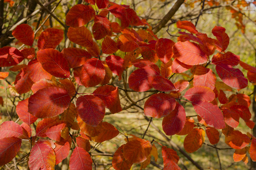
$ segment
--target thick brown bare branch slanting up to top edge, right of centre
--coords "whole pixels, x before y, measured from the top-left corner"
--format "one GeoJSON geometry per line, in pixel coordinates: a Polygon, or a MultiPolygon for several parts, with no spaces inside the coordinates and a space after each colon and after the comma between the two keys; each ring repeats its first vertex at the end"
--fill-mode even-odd
{"type": "Polygon", "coordinates": [[[162,29],[166,23],[174,16],[176,11],[180,8],[180,6],[183,4],[184,0],[177,0],[174,6],[172,6],[171,10],[164,16],[162,20],[153,28],[153,32],[157,33],[162,29]]]}

